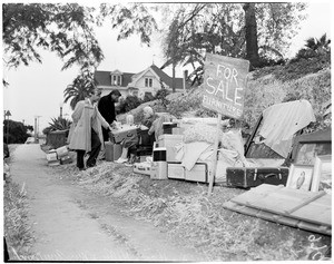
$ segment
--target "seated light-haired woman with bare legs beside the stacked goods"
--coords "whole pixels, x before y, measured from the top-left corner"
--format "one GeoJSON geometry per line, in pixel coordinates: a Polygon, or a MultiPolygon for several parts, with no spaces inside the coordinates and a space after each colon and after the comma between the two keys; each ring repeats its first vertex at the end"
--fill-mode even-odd
{"type": "Polygon", "coordinates": [[[148,129],[151,127],[151,124],[155,119],[154,110],[149,106],[146,106],[143,108],[143,114],[144,119],[141,125],[139,126],[139,129],[137,130],[137,135],[135,137],[124,139],[124,141],[121,143],[121,156],[115,163],[122,164],[128,162],[129,148],[136,148],[136,146],[140,144],[141,135],[145,134],[145,131],[148,131],[148,129]]]}

